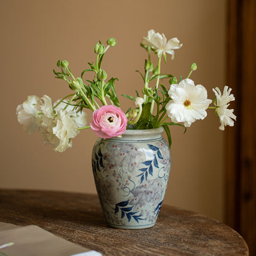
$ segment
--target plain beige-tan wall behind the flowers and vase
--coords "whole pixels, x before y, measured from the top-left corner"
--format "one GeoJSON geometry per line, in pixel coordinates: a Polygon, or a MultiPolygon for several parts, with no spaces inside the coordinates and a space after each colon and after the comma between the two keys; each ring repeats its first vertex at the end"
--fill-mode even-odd
{"type": "MultiPolygon", "coordinates": [[[[1,172],[0,188],[96,193],[90,151],[96,135],[82,131],[73,148],[54,153],[38,134],[27,135],[15,109],[27,95],[47,94],[54,100],[68,94],[64,81],[54,78],[58,59],[66,59],[76,75],[94,60],[100,39],[118,39],[103,68],[117,76],[118,94],[142,88],[135,70],[143,70],[146,52],[140,41],[153,28],[167,38],[177,36],[183,47],[175,60],[162,65],[186,76],[191,63],[196,84],[222,87],[225,81],[225,1],[67,1],[1,0],[1,172]]],[[[122,101],[126,110],[129,100],[122,101]]],[[[165,204],[195,210],[223,220],[223,133],[209,111],[205,121],[172,128],[172,174],[165,204]]]]}

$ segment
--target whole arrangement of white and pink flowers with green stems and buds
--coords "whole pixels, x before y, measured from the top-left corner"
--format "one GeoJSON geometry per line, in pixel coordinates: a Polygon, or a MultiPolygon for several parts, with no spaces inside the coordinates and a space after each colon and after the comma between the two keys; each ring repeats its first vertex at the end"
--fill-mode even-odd
{"type": "Polygon", "coordinates": [[[197,69],[196,63],[190,66],[188,76],[179,81],[171,74],[161,73],[162,58],[167,62],[167,54],[170,54],[173,60],[174,50],[180,49],[182,44],[177,38],[167,41],[164,34],[154,30],[148,31],[148,36],[141,43],[148,55],[144,73],[137,71],[144,83],[142,97],[137,91],[136,97],[123,94],[132,100],[134,107],[122,111],[114,85],[118,79],[107,79],[106,71],[102,69],[104,55],[116,42],[116,39],[110,38],[105,46],[99,41],[94,47],[95,63],[89,63],[89,68],[83,70],[79,78],[74,78],[66,60],[58,60],[60,70],[54,70],[54,74],[56,78],[66,81],[73,93],[54,104],[47,95],[42,98],[28,96],[22,105],[17,106],[18,122],[23,125],[25,132],[30,134],[38,131],[45,144],[52,145],[55,151],[63,152],[72,146],[71,139],[80,130],[88,128],[99,137],[111,138],[121,136],[126,129],[154,129],[162,126],[171,145],[170,126],[182,126],[186,131],[186,127],[190,127],[194,121],[206,118],[208,108],[215,110],[221,130],[234,125],[236,116],[228,108],[234,100],[231,89],[225,86],[223,93],[218,87],[213,89],[214,106],[210,106],[212,100],[207,98],[207,90],[201,84],[195,85],[190,79],[191,73],[197,69]],[[151,62],[152,53],[158,57],[156,66],[151,62]],[[94,73],[92,81],[84,79],[87,72],[94,73]],[[163,79],[169,79],[167,86],[160,83],[163,79]],[[89,126],[84,109],[93,112],[89,126]]]}

